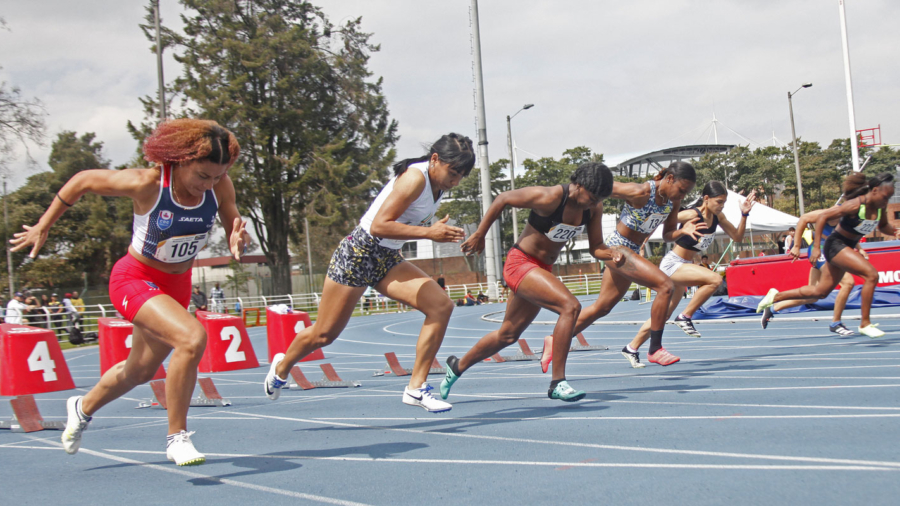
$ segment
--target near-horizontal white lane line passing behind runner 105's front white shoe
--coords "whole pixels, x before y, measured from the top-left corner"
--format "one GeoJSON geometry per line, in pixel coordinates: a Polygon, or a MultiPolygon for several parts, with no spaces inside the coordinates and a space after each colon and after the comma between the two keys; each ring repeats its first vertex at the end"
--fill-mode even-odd
{"type": "MultiPolygon", "coordinates": [[[[41,447],[24,447],[34,448],[41,447]]],[[[138,453],[151,455],[164,455],[165,452],[152,452],[144,450],[112,450],[111,453],[138,453]]],[[[306,455],[254,455],[249,453],[207,453],[209,457],[226,459],[254,458],[273,460],[330,460],[338,462],[385,462],[403,464],[455,464],[455,465],[496,465],[496,466],[536,466],[536,467],[588,467],[588,468],[661,468],[661,469],[716,469],[716,470],[761,470],[761,471],[893,471],[897,469],[879,466],[805,466],[805,465],[750,465],[750,464],[654,464],[634,462],[546,462],[532,460],[475,460],[475,459],[404,459],[396,457],[321,457],[306,455]]]]}

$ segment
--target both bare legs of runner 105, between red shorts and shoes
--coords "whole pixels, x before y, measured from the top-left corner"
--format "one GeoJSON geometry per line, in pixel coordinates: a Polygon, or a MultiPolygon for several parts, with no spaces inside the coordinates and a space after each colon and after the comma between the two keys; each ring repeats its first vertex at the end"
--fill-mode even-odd
{"type": "Polygon", "coordinates": [[[169,434],[187,429],[187,412],[197,383],[197,366],[206,349],[206,330],[168,295],[157,295],[134,318],[132,348],[125,362],[106,371],[82,400],[90,416],[110,401],[153,378],[171,350],[166,373],[169,434]]]}

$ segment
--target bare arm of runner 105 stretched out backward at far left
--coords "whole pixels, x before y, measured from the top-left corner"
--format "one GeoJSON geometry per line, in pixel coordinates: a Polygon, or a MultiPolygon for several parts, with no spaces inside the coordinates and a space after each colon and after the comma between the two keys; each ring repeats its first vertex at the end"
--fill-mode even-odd
{"type": "Polygon", "coordinates": [[[50,207],[35,225],[22,225],[25,231],[14,234],[14,238],[9,241],[15,245],[12,251],[34,245],[28,256],[36,258],[41,246],[47,241],[50,227],[86,193],[104,197],[130,197],[134,200],[135,210],[138,210],[149,206],[148,202],[155,202],[158,192],[159,171],[155,169],[83,170],[59,189],[50,207]]]}

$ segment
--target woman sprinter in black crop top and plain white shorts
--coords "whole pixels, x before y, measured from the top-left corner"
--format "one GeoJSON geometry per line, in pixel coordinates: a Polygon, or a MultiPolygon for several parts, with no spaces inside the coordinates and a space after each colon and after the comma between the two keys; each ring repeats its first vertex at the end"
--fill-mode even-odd
{"type": "MultiPolygon", "coordinates": [[[[741,203],[741,222],[737,228],[728,221],[725,213],[725,201],[728,199],[728,190],[725,185],[719,181],[710,181],[703,187],[702,202],[699,206],[685,209],[678,213],[679,222],[688,222],[699,218],[698,225],[701,227],[700,233],[703,234],[700,239],[695,239],[690,235],[683,235],[675,241],[675,247],[666,253],[662,262],[659,263],[660,270],[669,276],[669,279],[675,284],[675,290],[672,295],[672,301],[669,304],[666,317],[672,315],[678,303],[681,302],[681,296],[685,288],[689,286],[699,286],[697,293],[688,303],[685,310],[675,318],[675,325],[681,328],[685,334],[691,337],[700,337],[700,332],[694,328],[691,317],[704,302],[709,300],[716,288],[722,284],[722,277],[708,267],[695,265],[692,263],[694,256],[701,251],[706,251],[712,244],[714,234],[719,227],[728,234],[735,242],[744,239],[744,227],[747,226],[747,217],[750,216],[750,209],[756,203],[756,192],[750,195],[741,203]]],[[[622,355],[631,363],[631,367],[640,368],[644,364],[640,362],[637,356],[637,349],[650,337],[650,320],[644,322],[644,325],[638,331],[637,335],[631,343],[623,350],[622,355]]]]}

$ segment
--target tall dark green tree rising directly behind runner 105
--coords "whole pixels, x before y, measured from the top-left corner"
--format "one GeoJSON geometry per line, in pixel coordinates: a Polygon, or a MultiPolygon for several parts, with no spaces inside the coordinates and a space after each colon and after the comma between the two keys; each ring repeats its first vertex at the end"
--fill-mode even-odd
{"type": "MultiPolygon", "coordinates": [[[[184,114],[218,121],[241,143],[232,168],[241,212],[251,218],[273,276],[289,293],[289,244],[304,216],[344,232],[355,225],[394,157],[369,54],[379,47],[308,2],[182,0],[175,39],[183,74],[174,91],[184,114]]],[[[165,41],[164,41],[165,42],[165,41]]]]}

